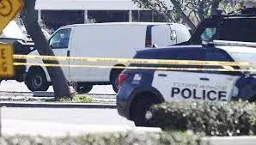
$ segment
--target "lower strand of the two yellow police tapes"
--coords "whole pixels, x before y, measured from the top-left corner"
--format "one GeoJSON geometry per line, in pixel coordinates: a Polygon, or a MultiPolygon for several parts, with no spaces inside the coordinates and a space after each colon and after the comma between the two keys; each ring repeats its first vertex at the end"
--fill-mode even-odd
{"type": "Polygon", "coordinates": [[[107,66],[107,65],[70,65],[70,64],[52,64],[52,63],[14,63],[15,66],[45,66],[45,67],[70,67],[70,68],[98,68],[98,69],[155,69],[155,70],[186,70],[186,71],[250,71],[256,72],[256,69],[204,69],[204,68],[167,68],[167,67],[134,67],[134,66],[107,66]]]}

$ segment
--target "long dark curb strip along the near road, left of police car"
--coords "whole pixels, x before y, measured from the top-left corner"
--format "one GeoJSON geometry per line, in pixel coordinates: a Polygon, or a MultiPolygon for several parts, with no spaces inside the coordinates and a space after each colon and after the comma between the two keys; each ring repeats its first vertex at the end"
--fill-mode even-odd
{"type": "Polygon", "coordinates": [[[115,109],[115,104],[105,103],[45,103],[45,102],[1,102],[5,107],[34,107],[34,108],[96,108],[115,109]]]}

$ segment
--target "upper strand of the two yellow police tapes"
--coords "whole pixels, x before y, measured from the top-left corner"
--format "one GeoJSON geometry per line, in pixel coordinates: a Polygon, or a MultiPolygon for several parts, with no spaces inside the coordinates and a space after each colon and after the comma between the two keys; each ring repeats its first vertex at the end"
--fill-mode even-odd
{"type": "Polygon", "coordinates": [[[250,62],[222,62],[222,61],[196,61],[174,59],[136,59],[136,58],[113,58],[113,57],[57,57],[57,56],[27,56],[13,55],[15,59],[42,59],[58,61],[82,61],[101,63],[144,63],[144,64],[174,64],[174,65],[226,65],[226,66],[254,66],[250,62]]]}

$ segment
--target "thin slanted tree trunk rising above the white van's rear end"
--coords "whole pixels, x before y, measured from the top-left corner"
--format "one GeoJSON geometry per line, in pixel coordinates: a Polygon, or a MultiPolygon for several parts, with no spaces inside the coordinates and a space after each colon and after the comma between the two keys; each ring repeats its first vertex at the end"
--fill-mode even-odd
{"type": "Polygon", "coordinates": [[[195,30],[196,26],[194,25],[192,20],[182,11],[182,9],[180,9],[180,5],[177,0],[170,1],[174,4],[174,9],[176,9],[176,11],[179,13],[181,19],[186,22],[186,24],[192,29],[192,31],[195,30]]]}

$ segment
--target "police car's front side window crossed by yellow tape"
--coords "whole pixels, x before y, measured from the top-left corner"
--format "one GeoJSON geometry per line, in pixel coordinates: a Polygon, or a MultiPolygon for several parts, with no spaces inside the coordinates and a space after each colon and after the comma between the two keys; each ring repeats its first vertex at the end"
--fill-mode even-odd
{"type": "MultiPolygon", "coordinates": [[[[204,51],[204,61],[222,61],[222,62],[234,62],[234,60],[229,56],[225,51],[217,49],[206,49],[204,51]]],[[[233,66],[222,66],[222,65],[204,65],[204,69],[237,69],[233,66]]],[[[213,73],[213,74],[226,74],[226,75],[239,75],[239,72],[234,71],[218,71],[218,70],[204,70],[204,73],[213,73]]]]}

